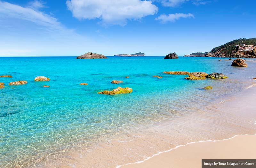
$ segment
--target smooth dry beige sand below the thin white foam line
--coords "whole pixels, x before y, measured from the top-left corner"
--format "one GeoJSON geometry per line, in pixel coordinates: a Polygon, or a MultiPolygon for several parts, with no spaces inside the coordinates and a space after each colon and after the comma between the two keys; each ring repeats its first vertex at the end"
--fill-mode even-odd
{"type": "Polygon", "coordinates": [[[121,168],[198,168],[201,159],[255,159],[255,142],[256,135],[237,135],[227,140],[189,143],[121,168]]]}

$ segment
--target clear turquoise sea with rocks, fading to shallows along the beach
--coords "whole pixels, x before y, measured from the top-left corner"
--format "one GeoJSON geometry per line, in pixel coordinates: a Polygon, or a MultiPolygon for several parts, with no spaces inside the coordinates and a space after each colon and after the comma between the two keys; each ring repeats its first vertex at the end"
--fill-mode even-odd
{"type": "Polygon", "coordinates": [[[0,167],[27,167],[36,159],[90,146],[130,127],[172,120],[252,84],[254,62],[241,68],[224,59],[0,57],[0,75],[13,76],[0,78],[5,83],[0,89],[0,167]],[[163,71],[219,72],[229,78],[190,81],[184,79],[186,75],[163,71]],[[34,82],[36,76],[51,80],[34,82]],[[28,84],[8,85],[18,80],[28,84]],[[112,84],[112,80],[124,82],[112,84]],[[82,82],[88,85],[79,85],[82,82]],[[201,89],[208,85],[213,89],[201,89]],[[97,94],[118,86],[130,87],[133,92],[97,94]]]}

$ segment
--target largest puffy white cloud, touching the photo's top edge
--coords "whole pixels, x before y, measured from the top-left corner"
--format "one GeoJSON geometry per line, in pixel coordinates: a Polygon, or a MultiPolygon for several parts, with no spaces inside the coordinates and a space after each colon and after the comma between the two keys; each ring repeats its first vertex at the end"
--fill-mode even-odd
{"type": "Polygon", "coordinates": [[[128,19],[141,19],[157,13],[151,1],[141,0],[67,0],[68,10],[77,19],[101,19],[104,25],[127,24],[128,19]]]}

